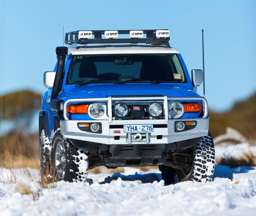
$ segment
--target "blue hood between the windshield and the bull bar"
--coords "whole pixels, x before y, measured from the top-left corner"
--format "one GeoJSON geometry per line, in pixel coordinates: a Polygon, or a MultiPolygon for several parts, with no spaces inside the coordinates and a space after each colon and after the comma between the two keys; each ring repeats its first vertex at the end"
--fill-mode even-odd
{"type": "Polygon", "coordinates": [[[107,95],[195,96],[196,93],[183,84],[90,84],[73,87],[58,98],[105,98],[107,95]]]}

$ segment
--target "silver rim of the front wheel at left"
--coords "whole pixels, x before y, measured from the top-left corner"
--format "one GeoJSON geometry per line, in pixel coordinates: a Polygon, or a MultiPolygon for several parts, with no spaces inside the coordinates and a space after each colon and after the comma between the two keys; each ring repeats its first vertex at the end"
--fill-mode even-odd
{"type": "Polygon", "coordinates": [[[66,168],[66,151],[63,142],[57,144],[55,150],[55,169],[60,179],[63,179],[65,176],[66,168]]]}

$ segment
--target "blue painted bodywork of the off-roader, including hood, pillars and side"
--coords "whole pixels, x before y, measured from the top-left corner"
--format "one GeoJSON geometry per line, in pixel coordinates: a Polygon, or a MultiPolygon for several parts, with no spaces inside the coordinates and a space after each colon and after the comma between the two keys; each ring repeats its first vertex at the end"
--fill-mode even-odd
{"type": "MultiPolygon", "coordinates": [[[[189,72],[186,68],[186,65],[181,57],[178,54],[180,63],[186,74],[188,83],[161,83],[161,84],[150,84],[150,83],[126,83],[126,84],[88,84],[84,86],[76,87],[76,85],[65,85],[68,69],[72,60],[72,55],[67,56],[66,63],[64,67],[64,79],[61,84],[61,93],[58,95],[58,99],[63,100],[64,102],[68,99],[73,98],[106,98],[107,95],[167,95],[167,96],[200,96],[194,92],[192,82],[189,77],[189,72]]],[[[55,65],[54,71],[57,69],[57,64],[55,65]]],[[[55,111],[52,111],[47,103],[47,98],[50,98],[52,89],[48,89],[47,92],[43,95],[42,101],[42,110],[46,111],[48,127],[50,129],[51,137],[54,135],[53,129],[53,116],[55,111]]],[[[181,102],[190,102],[190,101],[181,101],[181,102]]],[[[201,105],[201,101],[197,101],[201,105]]],[[[203,107],[203,106],[202,106],[203,107]]],[[[182,118],[197,118],[201,112],[196,113],[185,113],[182,118]]],[[[68,114],[68,117],[72,120],[91,120],[89,115],[78,115],[68,114]]]]}

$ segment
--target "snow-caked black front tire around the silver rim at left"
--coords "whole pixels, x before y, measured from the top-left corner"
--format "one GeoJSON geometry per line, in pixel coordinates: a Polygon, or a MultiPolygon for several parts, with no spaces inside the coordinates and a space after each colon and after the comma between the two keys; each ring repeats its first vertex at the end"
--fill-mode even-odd
{"type": "Polygon", "coordinates": [[[53,172],[55,172],[55,176],[57,176],[56,179],[69,182],[86,182],[88,173],[88,152],[74,147],[70,141],[64,138],[60,128],[58,128],[54,133],[49,153],[49,161],[51,162],[51,168],[54,169],[53,172]],[[63,178],[58,178],[58,174],[55,170],[55,151],[59,142],[64,144],[66,153],[65,172],[63,178]]]}

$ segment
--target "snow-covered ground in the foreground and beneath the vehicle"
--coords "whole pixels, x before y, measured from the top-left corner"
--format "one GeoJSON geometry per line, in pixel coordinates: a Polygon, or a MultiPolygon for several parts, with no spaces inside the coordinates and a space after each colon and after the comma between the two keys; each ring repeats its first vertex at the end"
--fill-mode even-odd
{"type": "MultiPolygon", "coordinates": [[[[3,175],[2,175],[3,174],[3,175]]],[[[0,170],[7,178],[8,170],[0,170]]],[[[213,182],[181,182],[165,186],[157,169],[144,172],[89,174],[90,184],[61,181],[59,187],[39,189],[39,198],[15,192],[17,184],[0,183],[1,216],[240,216],[256,214],[256,167],[216,166],[213,182]],[[231,180],[233,179],[233,181],[231,180]],[[91,184],[92,183],[92,184],[91,184]],[[238,184],[237,184],[238,183],[238,184]]],[[[17,170],[17,181],[26,175],[17,170]]],[[[2,179],[3,180],[3,179],[2,179]]]]}

